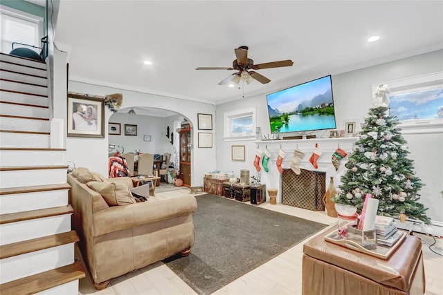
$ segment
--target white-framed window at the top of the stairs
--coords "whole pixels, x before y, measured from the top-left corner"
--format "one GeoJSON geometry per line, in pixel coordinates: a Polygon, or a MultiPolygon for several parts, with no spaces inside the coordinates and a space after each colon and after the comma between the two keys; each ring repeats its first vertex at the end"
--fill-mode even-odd
{"type": "MultiPolygon", "coordinates": [[[[42,17],[19,12],[6,6],[0,9],[1,53],[10,53],[12,43],[18,42],[30,46],[41,47],[40,39],[43,28],[42,17]]],[[[17,44],[17,47],[24,47],[17,44]]],[[[40,53],[39,48],[27,47],[40,53]]]]}

